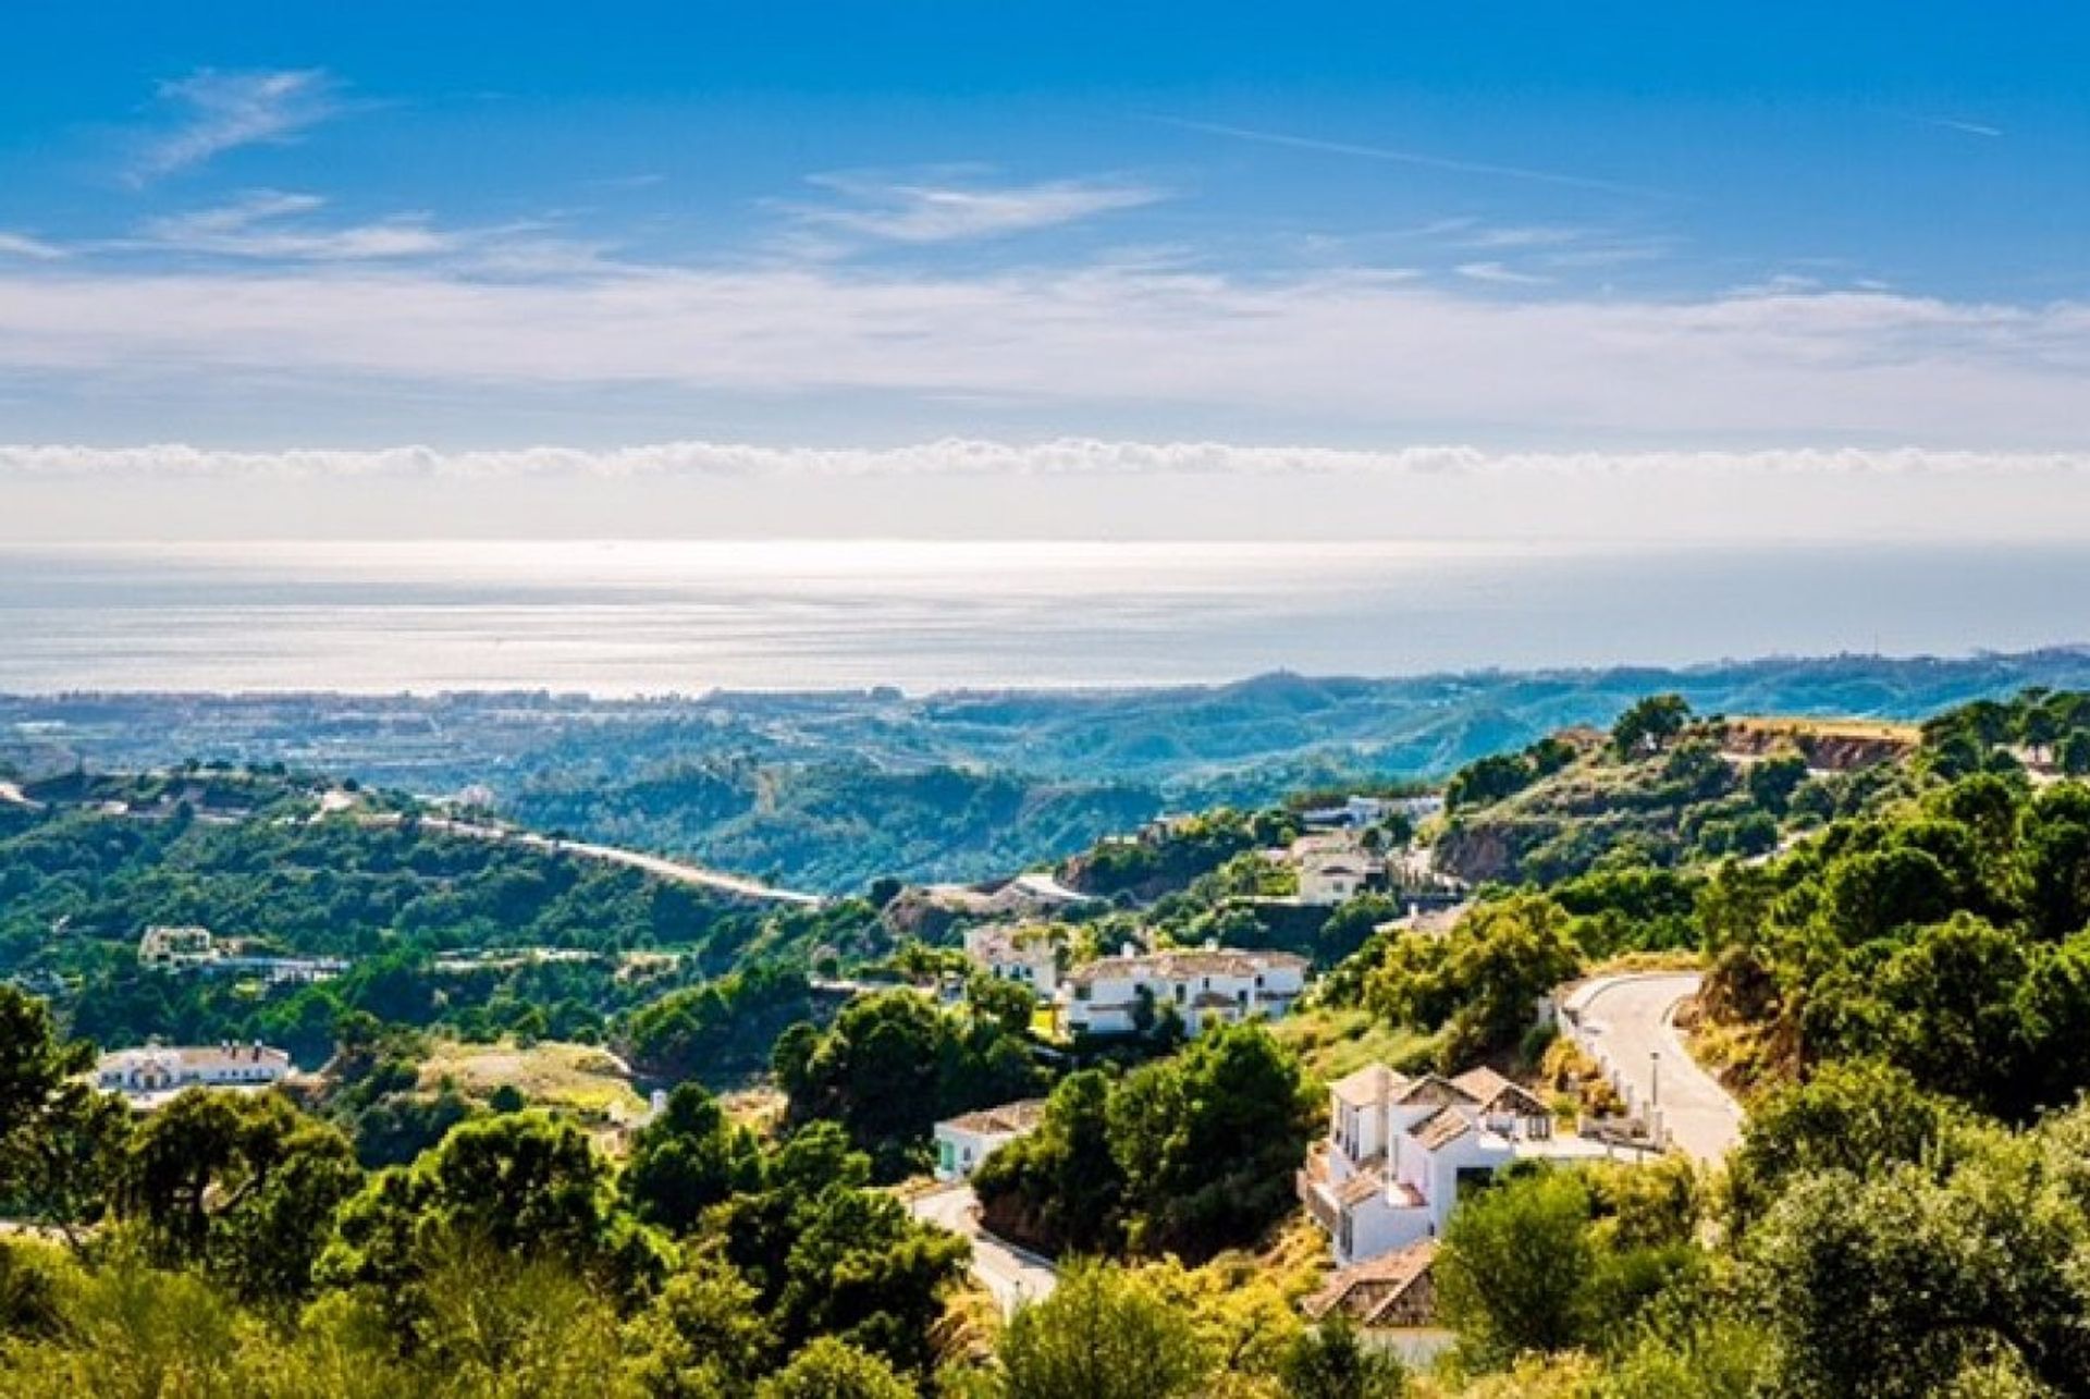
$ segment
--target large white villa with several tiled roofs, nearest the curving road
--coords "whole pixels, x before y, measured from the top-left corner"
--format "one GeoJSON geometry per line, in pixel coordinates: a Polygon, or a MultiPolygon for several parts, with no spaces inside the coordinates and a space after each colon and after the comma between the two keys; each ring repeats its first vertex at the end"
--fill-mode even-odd
{"type": "Polygon", "coordinates": [[[1492,1069],[1411,1079],[1367,1064],[1329,1096],[1298,1192],[1340,1267],[1438,1238],[1459,1196],[1513,1159],[1563,1154],[1547,1104],[1492,1069]]]}

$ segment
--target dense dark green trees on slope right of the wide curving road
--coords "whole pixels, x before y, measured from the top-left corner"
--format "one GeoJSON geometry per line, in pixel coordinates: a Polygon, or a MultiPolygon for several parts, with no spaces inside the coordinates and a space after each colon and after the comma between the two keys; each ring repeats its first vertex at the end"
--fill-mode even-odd
{"type": "Polygon", "coordinates": [[[1703,895],[1710,1004],[2027,1121],[2090,1085],[2090,788],[1977,774],[1703,895]]]}

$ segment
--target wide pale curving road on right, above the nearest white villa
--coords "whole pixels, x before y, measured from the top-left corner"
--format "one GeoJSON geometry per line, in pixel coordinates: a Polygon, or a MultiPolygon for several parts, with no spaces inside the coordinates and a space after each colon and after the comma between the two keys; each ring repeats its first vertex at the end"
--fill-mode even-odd
{"type": "Polygon", "coordinates": [[[1741,1140],[1741,1104],[1697,1067],[1672,1023],[1697,989],[1697,972],[1603,977],[1568,1004],[1580,1014],[1584,1043],[1603,1046],[1632,1085],[1634,1106],[1659,1102],[1678,1150],[1720,1161],[1741,1140]]]}

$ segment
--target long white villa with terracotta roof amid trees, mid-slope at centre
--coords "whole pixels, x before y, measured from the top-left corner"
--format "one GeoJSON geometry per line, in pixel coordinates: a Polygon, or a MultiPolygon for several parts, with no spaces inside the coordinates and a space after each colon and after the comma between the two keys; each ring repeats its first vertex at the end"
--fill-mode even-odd
{"type": "Polygon", "coordinates": [[[1141,1008],[1175,1006],[1191,1035],[1250,1016],[1279,1018],[1306,989],[1306,958],[1227,947],[1135,951],[1076,966],[1055,1006],[1068,1033],[1131,1035],[1141,1008]]]}

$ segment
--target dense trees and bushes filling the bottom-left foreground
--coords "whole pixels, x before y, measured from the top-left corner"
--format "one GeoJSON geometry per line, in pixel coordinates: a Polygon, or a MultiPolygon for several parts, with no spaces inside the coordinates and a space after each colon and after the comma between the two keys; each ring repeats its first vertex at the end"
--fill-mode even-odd
{"type": "MultiPolygon", "coordinates": [[[[366,1173],[278,1094],[192,1090],[136,1123],[59,1092],[77,1050],[0,987],[0,1144],[96,1129],[69,1255],[0,1244],[6,1395],[907,1395],[963,1242],[863,1186],[832,1125],[763,1150],[696,1087],[619,1171],[502,1113],[366,1173]],[[92,1225],[92,1232],[90,1228],[92,1225]]],[[[31,1152],[33,1154],[33,1152],[31,1152]]]]}

